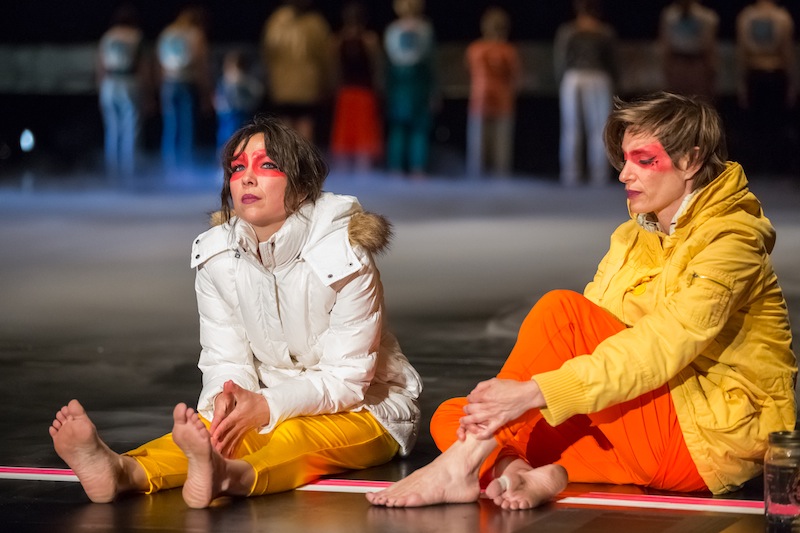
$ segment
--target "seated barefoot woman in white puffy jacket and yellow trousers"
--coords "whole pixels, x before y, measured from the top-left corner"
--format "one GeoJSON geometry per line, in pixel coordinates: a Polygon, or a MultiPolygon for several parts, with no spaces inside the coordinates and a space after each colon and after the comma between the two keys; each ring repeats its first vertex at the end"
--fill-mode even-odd
{"type": "Polygon", "coordinates": [[[56,413],[56,452],[94,502],[183,486],[191,507],[293,489],[406,455],[420,377],[384,329],[373,254],[382,217],[322,192],[319,152],[257,117],[222,154],[216,225],[192,249],[203,389],[171,434],[119,455],[77,400],[56,413]]]}

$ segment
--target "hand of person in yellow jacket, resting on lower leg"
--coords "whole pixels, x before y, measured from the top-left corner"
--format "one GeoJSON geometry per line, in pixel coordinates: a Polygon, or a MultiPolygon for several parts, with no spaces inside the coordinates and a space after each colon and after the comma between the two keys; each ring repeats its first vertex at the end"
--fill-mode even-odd
{"type": "Polygon", "coordinates": [[[481,440],[490,439],[501,426],[526,411],[545,406],[539,385],[533,380],[482,381],[469,393],[467,401],[458,430],[460,440],[468,433],[481,440]]]}

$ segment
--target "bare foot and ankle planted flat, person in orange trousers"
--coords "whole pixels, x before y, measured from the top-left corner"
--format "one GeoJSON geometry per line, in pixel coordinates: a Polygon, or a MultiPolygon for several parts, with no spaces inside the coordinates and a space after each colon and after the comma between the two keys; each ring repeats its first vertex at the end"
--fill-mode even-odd
{"type": "Polygon", "coordinates": [[[497,446],[494,439],[478,440],[467,435],[429,465],[387,489],[368,493],[367,499],[373,505],[386,507],[475,502],[481,493],[478,471],[497,446]]]}

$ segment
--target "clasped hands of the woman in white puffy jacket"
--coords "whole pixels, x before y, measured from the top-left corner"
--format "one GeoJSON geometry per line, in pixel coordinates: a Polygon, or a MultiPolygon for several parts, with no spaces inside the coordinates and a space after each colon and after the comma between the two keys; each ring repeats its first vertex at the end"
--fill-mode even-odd
{"type": "Polygon", "coordinates": [[[226,381],[214,402],[211,444],[223,457],[233,456],[245,433],[269,424],[269,404],[257,392],[226,381]],[[218,407],[222,407],[218,411],[218,407]]]}

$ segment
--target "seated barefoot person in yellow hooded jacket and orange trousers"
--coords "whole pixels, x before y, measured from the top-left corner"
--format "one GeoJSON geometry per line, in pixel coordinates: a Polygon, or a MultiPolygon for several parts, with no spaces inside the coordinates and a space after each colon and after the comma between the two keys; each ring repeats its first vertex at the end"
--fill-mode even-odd
{"type": "Polygon", "coordinates": [[[552,291],[496,379],[442,404],[445,450],[367,498],[539,505],[568,481],[734,491],[793,429],[797,365],[775,230],[719,115],[671,93],[615,100],[607,154],[630,220],[584,294],[552,291]]]}

